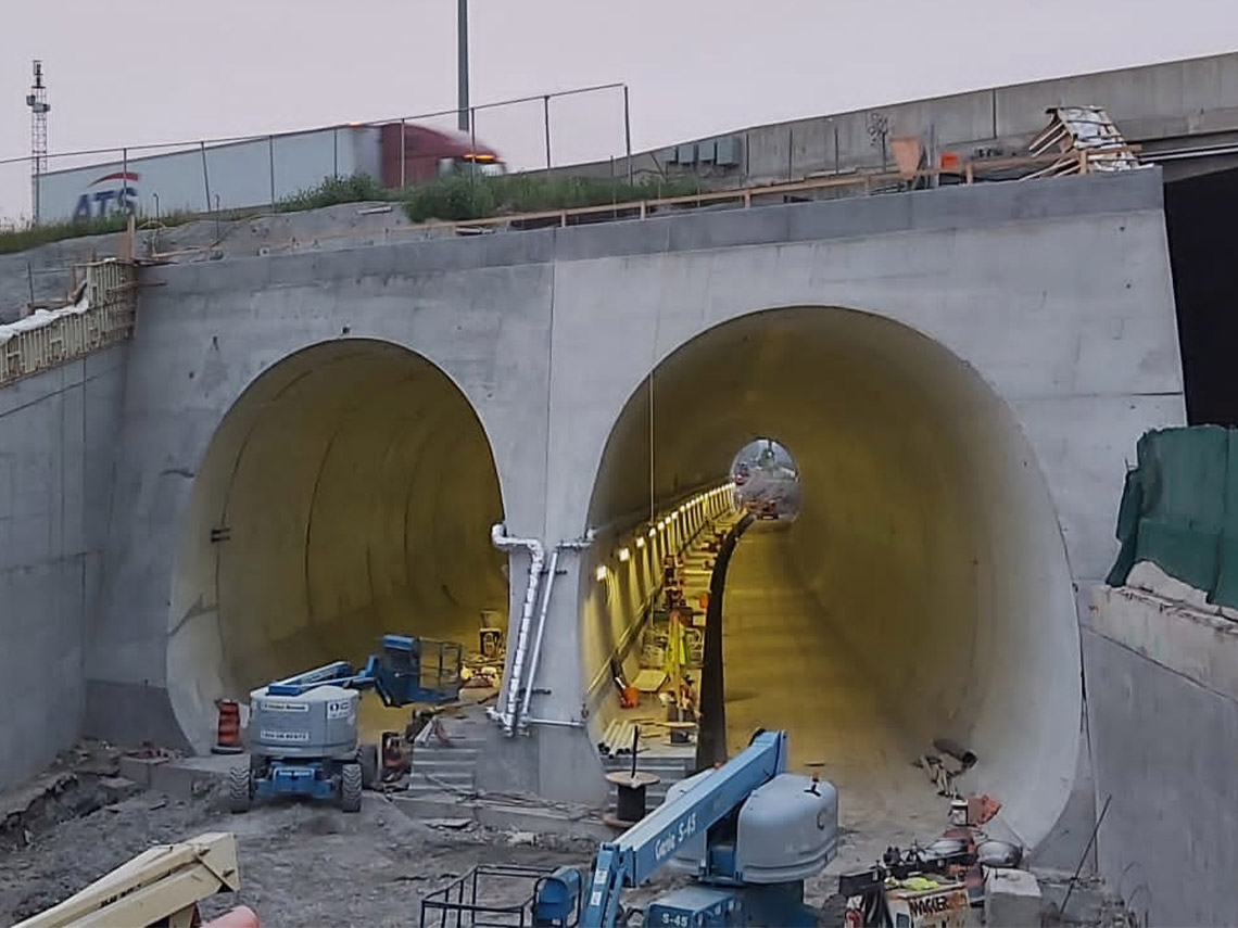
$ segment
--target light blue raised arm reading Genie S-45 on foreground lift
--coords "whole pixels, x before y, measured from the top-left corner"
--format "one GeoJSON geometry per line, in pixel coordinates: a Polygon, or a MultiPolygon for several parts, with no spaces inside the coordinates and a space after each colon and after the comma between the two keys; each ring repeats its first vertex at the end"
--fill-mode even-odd
{"type": "Polygon", "coordinates": [[[743,806],[754,789],[786,770],[786,758],[785,731],[758,733],[747,749],[693,788],[651,812],[618,840],[604,843],[581,919],[584,928],[617,924],[624,887],[649,880],[686,841],[743,806]]]}

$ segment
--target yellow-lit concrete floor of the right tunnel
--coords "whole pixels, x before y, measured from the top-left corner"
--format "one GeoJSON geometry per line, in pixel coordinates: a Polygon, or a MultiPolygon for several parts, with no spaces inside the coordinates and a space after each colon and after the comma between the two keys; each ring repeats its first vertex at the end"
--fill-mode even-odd
{"type": "Polygon", "coordinates": [[[801,583],[789,528],[754,522],[727,573],[728,754],[743,750],[758,728],[785,729],[790,768],[816,771],[838,788],[839,818],[872,839],[864,844],[936,838],[948,801],[911,765],[916,746],[881,711],[880,694],[832,634],[846,616],[828,615],[801,583]]]}

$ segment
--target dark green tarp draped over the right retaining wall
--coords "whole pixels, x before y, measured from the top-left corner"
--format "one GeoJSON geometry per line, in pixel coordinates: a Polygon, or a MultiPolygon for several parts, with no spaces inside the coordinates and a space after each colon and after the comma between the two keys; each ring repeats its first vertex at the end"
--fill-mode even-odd
{"type": "Polygon", "coordinates": [[[1139,439],[1118,510],[1122,551],[1107,583],[1139,561],[1238,606],[1238,429],[1167,428],[1139,439]]]}

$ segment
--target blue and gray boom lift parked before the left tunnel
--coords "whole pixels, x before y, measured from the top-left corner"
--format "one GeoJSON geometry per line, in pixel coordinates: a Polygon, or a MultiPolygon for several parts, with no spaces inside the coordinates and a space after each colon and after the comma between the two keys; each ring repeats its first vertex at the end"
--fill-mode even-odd
{"type": "Polygon", "coordinates": [[[229,772],[233,812],[255,799],[303,796],[361,808],[378,782],[378,747],[358,740],[358,705],[373,689],[384,705],[441,705],[459,697],[463,647],[456,642],[384,635],[364,667],[347,661],[269,683],[249,695],[249,766],[229,772]]]}

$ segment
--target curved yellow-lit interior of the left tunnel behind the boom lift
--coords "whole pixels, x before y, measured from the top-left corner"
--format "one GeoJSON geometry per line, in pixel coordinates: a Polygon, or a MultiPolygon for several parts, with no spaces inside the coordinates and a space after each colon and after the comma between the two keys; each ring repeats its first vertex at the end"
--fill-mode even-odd
{"type": "MultiPolygon", "coordinates": [[[[272,365],[220,422],[183,520],[167,679],[187,737],[210,742],[217,698],[357,663],[385,632],[477,642],[508,608],[500,521],[482,423],[432,363],[347,339],[272,365]]],[[[373,734],[381,707],[361,705],[373,734]]]]}

